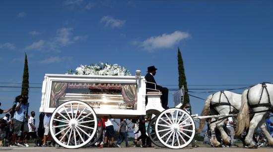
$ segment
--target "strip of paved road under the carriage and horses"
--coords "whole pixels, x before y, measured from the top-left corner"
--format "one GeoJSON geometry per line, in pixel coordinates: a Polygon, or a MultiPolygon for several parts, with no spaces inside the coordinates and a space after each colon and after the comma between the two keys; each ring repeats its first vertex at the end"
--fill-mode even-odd
{"type": "Polygon", "coordinates": [[[272,148],[244,149],[244,148],[184,148],[182,150],[171,150],[167,148],[80,148],[69,150],[63,148],[5,148],[0,147],[0,151],[6,152],[272,152],[272,148]]]}

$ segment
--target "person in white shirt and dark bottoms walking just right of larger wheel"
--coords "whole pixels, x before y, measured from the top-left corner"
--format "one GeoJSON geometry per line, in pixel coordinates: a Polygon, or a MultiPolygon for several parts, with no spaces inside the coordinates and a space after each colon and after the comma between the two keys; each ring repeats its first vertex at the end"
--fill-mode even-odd
{"type": "Polygon", "coordinates": [[[120,124],[115,119],[108,119],[107,116],[103,117],[103,119],[105,121],[105,129],[106,129],[104,147],[107,147],[107,146],[108,147],[117,147],[116,144],[114,144],[115,130],[114,130],[114,125],[113,125],[112,121],[116,122],[118,126],[120,124]],[[112,144],[109,141],[109,145],[107,145],[108,139],[111,139],[112,144]]]}

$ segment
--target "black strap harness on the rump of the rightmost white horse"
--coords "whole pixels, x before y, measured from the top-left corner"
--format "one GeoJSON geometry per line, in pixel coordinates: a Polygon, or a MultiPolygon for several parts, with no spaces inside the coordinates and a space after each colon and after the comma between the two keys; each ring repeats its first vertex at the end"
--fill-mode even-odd
{"type": "Polygon", "coordinates": [[[259,99],[259,103],[256,104],[256,105],[250,105],[249,103],[249,100],[248,100],[248,93],[249,93],[249,90],[247,91],[247,102],[248,102],[248,105],[250,108],[257,108],[257,107],[269,107],[271,112],[273,112],[273,106],[271,104],[271,101],[270,101],[270,95],[269,95],[269,92],[268,92],[268,89],[267,89],[267,82],[263,82],[261,83],[262,84],[262,93],[261,93],[261,96],[260,96],[260,99],[259,99]],[[263,96],[263,93],[264,93],[264,90],[266,90],[267,94],[268,94],[268,103],[263,103],[263,104],[260,104],[261,100],[262,100],[262,96],[263,96]]]}

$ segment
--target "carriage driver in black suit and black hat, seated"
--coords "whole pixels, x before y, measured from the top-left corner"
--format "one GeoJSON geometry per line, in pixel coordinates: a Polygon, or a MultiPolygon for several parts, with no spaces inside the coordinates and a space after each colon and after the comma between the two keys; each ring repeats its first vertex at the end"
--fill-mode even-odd
{"type": "Polygon", "coordinates": [[[162,93],[162,95],[161,95],[162,107],[164,109],[168,109],[169,107],[167,107],[167,106],[168,106],[169,90],[166,87],[162,87],[162,86],[156,84],[155,79],[153,77],[156,74],[156,70],[157,69],[154,66],[148,67],[148,71],[147,71],[148,73],[145,76],[145,79],[147,81],[147,83],[146,83],[146,92],[160,90],[160,92],[162,93]],[[152,82],[152,83],[148,83],[148,82],[152,82]],[[153,84],[153,83],[155,83],[155,84],[153,84]],[[156,85],[156,88],[155,88],[155,85],[156,85]],[[151,90],[151,89],[156,89],[156,90],[151,90]]]}

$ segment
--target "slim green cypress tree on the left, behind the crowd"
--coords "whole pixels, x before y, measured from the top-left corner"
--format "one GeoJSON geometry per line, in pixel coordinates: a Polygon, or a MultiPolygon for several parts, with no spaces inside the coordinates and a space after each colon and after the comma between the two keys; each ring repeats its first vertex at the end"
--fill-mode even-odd
{"type": "Polygon", "coordinates": [[[23,73],[21,95],[28,96],[28,88],[29,88],[28,64],[27,64],[27,55],[25,53],[25,64],[24,64],[24,73],[23,73]]]}

